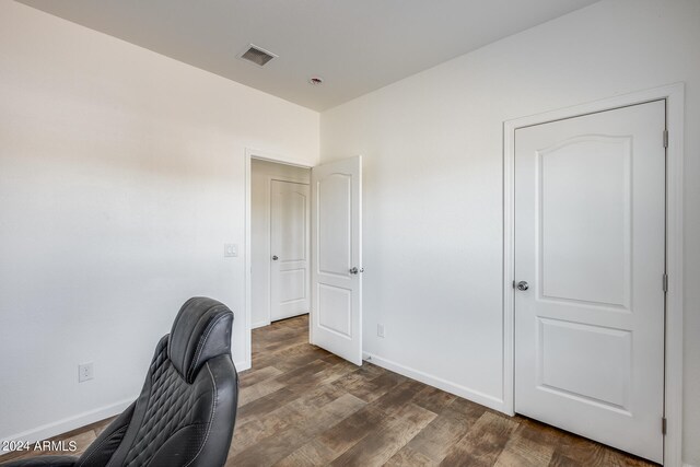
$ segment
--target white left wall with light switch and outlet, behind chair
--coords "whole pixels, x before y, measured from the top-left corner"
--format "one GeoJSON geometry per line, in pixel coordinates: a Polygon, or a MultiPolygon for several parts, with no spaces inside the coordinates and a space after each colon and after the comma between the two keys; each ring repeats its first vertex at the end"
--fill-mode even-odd
{"type": "Polygon", "coordinates": [[[318,138],[315,112],[0,2],[0,439],[122,407],[191,295],[234,311],[245,364],[245,148],[313,165],[318,138]]]}

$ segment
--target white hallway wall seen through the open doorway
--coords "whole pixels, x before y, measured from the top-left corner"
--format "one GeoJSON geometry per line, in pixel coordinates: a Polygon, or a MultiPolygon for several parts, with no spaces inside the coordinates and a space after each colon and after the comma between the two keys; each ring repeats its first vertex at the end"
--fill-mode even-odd
{"type": "Polygon", "coordinates": [[[270,324],[270,180],[311,183],[311,170],[268,161],[250,162],[250,323],[270,324]]]}

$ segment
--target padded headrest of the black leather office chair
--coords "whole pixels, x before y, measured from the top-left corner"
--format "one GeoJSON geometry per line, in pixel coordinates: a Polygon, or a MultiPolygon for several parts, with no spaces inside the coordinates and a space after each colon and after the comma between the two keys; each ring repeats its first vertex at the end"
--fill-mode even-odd
{"type": "Polygon", "coordinates": [[[191,384],[207,360],[231,354],[233,313],[223,303],[206,296],[189,299],[173,323],[167,357],[175,370],[191,384]]]}

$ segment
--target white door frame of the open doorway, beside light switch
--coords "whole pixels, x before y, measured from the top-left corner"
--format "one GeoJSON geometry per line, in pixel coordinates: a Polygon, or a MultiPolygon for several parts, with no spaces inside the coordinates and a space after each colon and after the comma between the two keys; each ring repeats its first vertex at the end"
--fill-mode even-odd
{"type": "MultiPolygon", "coordinates": [[[[252,326],[252,313],[250,313],[250,297],[253,295],[252,292],[252,278],[250,278],[250,238],[253,237],[250,233],[250,167],[252,161],[260,160],[275,162],[277,164],[292,165],[295,167],[302,168],[312,168],[313,165],[305,165],[300,163],[299,161],[293,161],[283,155],[275,154],[268,151],[261,151],[257,149],[246,148],[245,149],[245,256],[243,261],[244,267],[244,283],[245,283],[245,299],[244,299],[244,307],[245,307],[245,354],[246,361],[243,362],[238,371],[248,370],[253,365],[253,326],[252,326]]],[[[269,311],[268,311],[269,312],[269,311]]]]}

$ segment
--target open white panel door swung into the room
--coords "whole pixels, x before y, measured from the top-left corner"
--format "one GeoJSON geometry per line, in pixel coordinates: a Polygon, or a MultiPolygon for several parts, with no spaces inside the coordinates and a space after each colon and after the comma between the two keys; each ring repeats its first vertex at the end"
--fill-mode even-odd
{"type": "Polygon", "coordinates": [[[311,342],[362,364],[362,159],[314,167],[311,342]]]}

